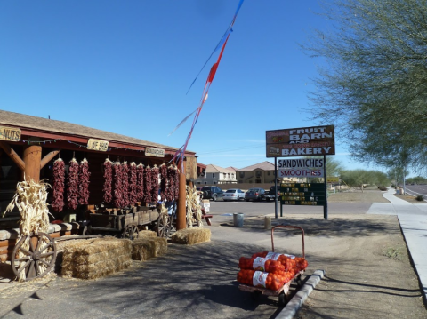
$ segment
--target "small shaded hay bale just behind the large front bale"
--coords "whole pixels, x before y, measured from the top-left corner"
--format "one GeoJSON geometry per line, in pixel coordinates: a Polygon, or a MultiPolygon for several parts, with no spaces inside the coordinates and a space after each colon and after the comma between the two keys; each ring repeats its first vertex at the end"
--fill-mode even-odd
{"type": "Polygon", "coordinates": [[[167,251],[167,240],[162,237],[137,238],[132,242],[132,259],[148,260],[167,251]]]}

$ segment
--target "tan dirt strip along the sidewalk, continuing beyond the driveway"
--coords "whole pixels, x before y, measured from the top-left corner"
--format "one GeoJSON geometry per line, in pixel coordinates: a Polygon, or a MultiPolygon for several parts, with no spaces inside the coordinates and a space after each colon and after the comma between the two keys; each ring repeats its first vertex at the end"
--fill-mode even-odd
{"type": "MultiPolygon", "coordinates": [[[[328,200],[381,203],[383,196],[364,191],[335,194],[328,200]]],[[[300,216],[292,219],[307,229],[310,268],[326,270],[296,318],[427,318],[395,216],[335,215],[316,223],[300,216]]]]}

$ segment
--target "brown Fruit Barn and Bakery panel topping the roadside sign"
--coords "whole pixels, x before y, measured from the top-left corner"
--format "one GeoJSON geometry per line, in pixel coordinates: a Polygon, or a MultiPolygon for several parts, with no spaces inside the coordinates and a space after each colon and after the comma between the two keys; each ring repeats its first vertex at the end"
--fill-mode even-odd
{"type": "Polygon", "coordinates": [[[267,157],[335,154],[334,125],[265,132],[267,157]]]}

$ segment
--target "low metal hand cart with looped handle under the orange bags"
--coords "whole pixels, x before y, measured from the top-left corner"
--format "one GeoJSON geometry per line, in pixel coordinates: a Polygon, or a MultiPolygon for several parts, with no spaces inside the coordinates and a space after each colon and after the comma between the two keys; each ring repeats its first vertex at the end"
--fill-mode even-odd
{"type": "MultiPolygon", "coordinates": [[[[271,228],[271,251],[274,252],[274,229],[276,228],[294,228],[299,229],[302,232],[302,258],[305,259],[305,249],[304,249],[304,230],[302,227],[298,226],[289,226],[289,225],[278,225],[271,228]]],[[[304,274],[305,270],[300,270],[298,273],[294,275],[294,277],[287,283],[285,283],[280,289],[277,291],[272,291],[270,289],[262,288],[262,287],[254,287],[249,286],[247,284],[240,283],[238,285],[238,289],[241,291],[248,291],[252,292],[252,296],[254,299],[257,299],[260,295],[265,296],[273,296],[278,297],[278,303],[280,306],[284,306],[286,304],[286,301],[288,301],[289,295],[290,295],[290,287],[291,283],[295,282],[300,288],[302,286],[302,275],[304,274]]]]}

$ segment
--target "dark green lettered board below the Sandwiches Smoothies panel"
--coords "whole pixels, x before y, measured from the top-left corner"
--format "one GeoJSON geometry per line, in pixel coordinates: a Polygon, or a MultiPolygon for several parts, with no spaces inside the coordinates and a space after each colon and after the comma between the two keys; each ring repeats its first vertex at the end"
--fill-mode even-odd
{"type": "Polygon", "coordinates": [[[323,206],[326,203],[323,183],[282,183],[280,184],[282,205],[323,206]]]}

